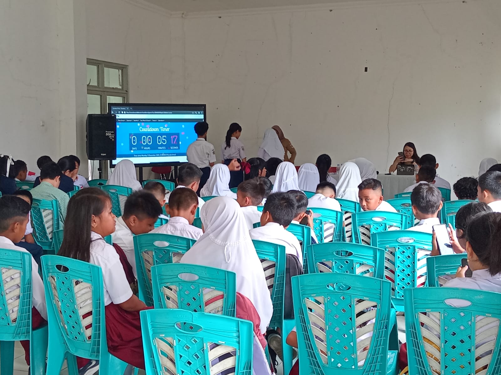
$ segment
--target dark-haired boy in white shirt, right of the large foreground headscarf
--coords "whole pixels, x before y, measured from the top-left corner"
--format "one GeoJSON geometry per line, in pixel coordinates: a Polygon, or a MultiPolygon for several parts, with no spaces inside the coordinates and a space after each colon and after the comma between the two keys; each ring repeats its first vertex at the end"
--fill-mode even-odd
{"type": "Polygon", "coordinates": [[[287,254],[296,255],[303,264],[303,251],[298,238],[286,229],[296,213],[296,202],[288,192],[270,194],[261,215],[261,226],[250,229],[250,238],[285,246],[287,254]]]}

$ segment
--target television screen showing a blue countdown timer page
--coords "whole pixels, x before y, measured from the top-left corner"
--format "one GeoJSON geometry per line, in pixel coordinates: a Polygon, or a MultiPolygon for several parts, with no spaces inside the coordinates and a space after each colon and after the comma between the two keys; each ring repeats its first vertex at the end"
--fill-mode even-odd
{"type": "Polygon", "coordinates": [[[117,158],[136,166],[187,162],[186,149],[196,140],[193,126],[205,121],[205,104],[109,103],[117,117],[117,158]]]}

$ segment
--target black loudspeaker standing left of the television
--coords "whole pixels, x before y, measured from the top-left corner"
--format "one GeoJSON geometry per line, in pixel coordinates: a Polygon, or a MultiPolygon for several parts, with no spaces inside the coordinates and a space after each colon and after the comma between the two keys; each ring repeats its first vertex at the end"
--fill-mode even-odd
{"type": "Polygon", "coordinates": [[[114,114],[88,114],[86,127],[89,160],[116,159],[116,116],[114,114]]]}

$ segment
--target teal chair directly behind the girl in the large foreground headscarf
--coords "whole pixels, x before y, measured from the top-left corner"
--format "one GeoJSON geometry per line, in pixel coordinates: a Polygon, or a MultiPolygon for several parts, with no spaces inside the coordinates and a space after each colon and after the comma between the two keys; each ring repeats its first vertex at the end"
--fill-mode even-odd
{"type": "Polygon", "coordinates": [[[197,264],[151,267],[155,308],[181,308],[235,316],[236,275],[197,264]]]}

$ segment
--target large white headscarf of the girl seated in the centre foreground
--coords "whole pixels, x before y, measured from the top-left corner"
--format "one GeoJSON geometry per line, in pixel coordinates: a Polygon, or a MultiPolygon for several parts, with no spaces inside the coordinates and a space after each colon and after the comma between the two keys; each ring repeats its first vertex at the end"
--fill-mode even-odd
{"type": "Polygon", "coordinates": [[[254,304],[261,332],[266,332],[273,314],[272,299],[240,206],[227,196],[212,198],[202,206],[200,218],[205,232],[180,262],[235,272],[236,291],[254,304]]]}

